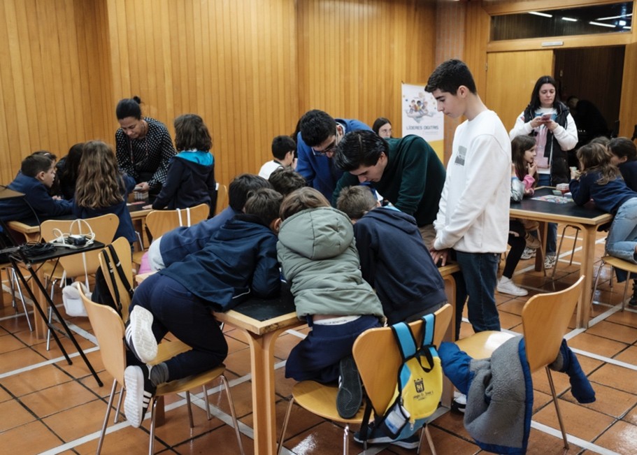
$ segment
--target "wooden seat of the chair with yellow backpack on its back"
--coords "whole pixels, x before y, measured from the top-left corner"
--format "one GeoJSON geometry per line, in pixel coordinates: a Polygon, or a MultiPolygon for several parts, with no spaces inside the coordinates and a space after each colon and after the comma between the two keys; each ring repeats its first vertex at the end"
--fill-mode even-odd
{"type": "Polygon", "coordinates": [[[351,419],[343,419],[336,410],[336,393],[338,393],[338,386],[320,384],[315,381],[297,382],[292,387],[294,401],[313,414],[346,424],[360,424],[363,421],[364,406],[361,406],[351,419]]]}

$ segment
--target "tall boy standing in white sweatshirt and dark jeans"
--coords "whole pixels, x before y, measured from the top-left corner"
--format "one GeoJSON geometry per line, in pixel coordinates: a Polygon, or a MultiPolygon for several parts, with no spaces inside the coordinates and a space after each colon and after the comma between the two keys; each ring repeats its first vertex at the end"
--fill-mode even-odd
{"type": "Polygon", "coordinates": [[[457,280],[456,337],[464,301],[473,331],[500,330],[494,298],[500,254],[508,238],[511,143],[498,115],[482,103],[471,71],[457,59],[429,76],[427,92],[438,110],[466,120],[457,127],[438,216],[434,262],[444,265],[453,252],[457,280]]]}

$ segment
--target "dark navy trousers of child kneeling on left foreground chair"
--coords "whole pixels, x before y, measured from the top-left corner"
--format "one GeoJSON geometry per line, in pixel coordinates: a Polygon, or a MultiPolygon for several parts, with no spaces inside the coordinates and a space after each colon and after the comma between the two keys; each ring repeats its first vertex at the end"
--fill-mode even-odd
{"type": "Polygon", "coordinates": [[[192,347],[166,361],[169,381],[215,368],[228,355],[228,344],[210,306],[182,284],[155,273],[136,289],[131,310],[140,305],[152,313],[157,342],[171,332],[192,347]]]}

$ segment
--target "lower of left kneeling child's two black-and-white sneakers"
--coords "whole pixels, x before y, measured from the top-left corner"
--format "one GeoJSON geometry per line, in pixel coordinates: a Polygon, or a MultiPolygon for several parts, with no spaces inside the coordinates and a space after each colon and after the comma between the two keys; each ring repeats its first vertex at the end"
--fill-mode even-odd
{"type": "Polygon", "coordinates": [[[157,391],[157,387],[150,382],[150,368],[152,367],[135,365],[128,366],[124,370],[124,387],[126,387],[124,414],[131,426],[135,428],[141,425],[150,400],[157,391]]]}

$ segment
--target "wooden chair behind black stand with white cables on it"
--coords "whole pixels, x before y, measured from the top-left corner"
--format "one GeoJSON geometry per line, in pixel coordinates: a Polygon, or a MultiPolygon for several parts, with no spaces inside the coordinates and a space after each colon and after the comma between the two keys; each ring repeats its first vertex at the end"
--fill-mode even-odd
{"type": "MultiPolygon", "coordinates": [[[[115,237],[115,231],[120,225],[120,219],[117,215],[109,213],[100,217],[87,218],[82,222],[76,222],[74,219],[48,219],[40,225],[40,232],[43,240],[50,242],[64,234],[87,234],[87,226],[95,234],[95,240],[104,244],[111,243],[115,237]],[[87,224],[85,224],[86,222],[87,224]],[[71,229],[73,231],[71,232],[71,229]]],[[[130,248],[130,247],[129,247],[130,248]]],[[[94,275],[99,267],[99,250],[83,252],[79,254],[59,258],[58,261],[50,261],[43,265],[43,276],[46,284],[51,283],[51,301],[53,301],[53,291],[55,283],[60,282],[60,287],[64,287],[66,277],[88,277],[94,275]]],[[[45,284],[45,286],[46,286],[45,284]]],[[[49,308],[49,322],[52,318],[52,310],[49,308]]],[[[51,331],[48,330],[46,349],[50,347],[51,331]]]]}

